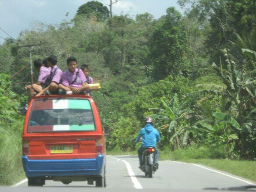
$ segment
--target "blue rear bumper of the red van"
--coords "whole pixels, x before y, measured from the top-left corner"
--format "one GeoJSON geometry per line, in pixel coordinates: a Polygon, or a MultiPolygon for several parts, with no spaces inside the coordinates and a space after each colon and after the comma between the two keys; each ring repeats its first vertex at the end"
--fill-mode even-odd
{"type": "Polygon", "coordinates": [[[72,160],[29,160],[27,156],[22,156],[22,164],[27,177],[103,176],[105,162],[104,155],[97,155],[96,159],[72,160]]]}

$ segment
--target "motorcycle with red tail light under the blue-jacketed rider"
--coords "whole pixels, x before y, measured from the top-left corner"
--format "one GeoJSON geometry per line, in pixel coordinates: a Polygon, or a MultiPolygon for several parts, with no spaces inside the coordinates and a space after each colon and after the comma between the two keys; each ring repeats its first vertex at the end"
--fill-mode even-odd
{"type": "Polygon", "coordinates": [[[147,147],[142,153],[142,168],[145,176],[152,178],[153,173],[158,169],[158,164],[155,163],[156,150],[154,147],[147,147]]]}

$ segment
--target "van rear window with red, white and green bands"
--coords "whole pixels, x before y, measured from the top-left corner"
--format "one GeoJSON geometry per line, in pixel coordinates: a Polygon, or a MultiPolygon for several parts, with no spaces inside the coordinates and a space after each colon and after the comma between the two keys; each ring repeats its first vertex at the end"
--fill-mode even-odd
{"type": "Polygon", "coordinates": [[[95,131],[92,107],[86,99],[35,100],[28,132],[95,131]]]}

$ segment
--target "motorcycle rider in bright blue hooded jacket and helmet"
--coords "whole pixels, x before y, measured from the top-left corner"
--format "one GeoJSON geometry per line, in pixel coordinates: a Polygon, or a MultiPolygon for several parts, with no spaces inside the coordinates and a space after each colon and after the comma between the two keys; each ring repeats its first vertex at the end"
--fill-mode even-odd
{"type": "Polygon", "coordinates": [[[154,147],[156,150],[156,156],[155,156],[155,164],[158,167],[158,157],[159,157],[159,150],[156,147],[156,142],[160,141],[160,134],[157,131],[156,128],[153,127],[154,121],[151,117],[146,117],[146,125],[144,128],[142,128],[139,132],[139,136],[136,139],[136,142],[139,141],[140,138],[142,138],[142,145],[138,150],[138,156],[139,156],[139,168],[142,168],[142,153],[143,151],[151,146],[154,147]]]}

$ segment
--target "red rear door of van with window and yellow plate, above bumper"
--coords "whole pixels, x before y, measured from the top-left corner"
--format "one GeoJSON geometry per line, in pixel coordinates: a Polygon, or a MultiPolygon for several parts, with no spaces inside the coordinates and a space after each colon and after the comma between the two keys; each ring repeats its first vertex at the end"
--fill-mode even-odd
{"type": "Polygon", "coordinates": [[[96,128],[86,98],[34,100],[26,130],[29,159],[90,159],[103,153],[101,126],[96,128]]]}

